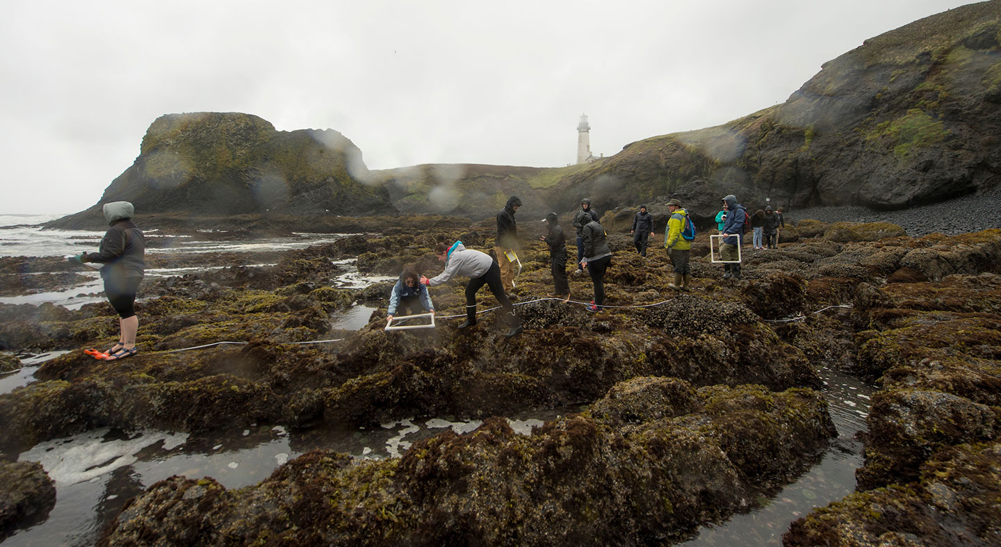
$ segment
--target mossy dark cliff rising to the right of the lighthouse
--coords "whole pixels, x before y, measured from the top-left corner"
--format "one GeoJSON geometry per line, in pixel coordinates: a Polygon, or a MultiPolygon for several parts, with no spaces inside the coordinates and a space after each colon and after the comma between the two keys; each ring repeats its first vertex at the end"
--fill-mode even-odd
{"type": "Polygon", "coordinates": [[[1001,2],[921,19],[826,63],[783,104],[627,145],[552,196],[599,208],[676,195],[901,209],[997,186],[1001,2]]]}

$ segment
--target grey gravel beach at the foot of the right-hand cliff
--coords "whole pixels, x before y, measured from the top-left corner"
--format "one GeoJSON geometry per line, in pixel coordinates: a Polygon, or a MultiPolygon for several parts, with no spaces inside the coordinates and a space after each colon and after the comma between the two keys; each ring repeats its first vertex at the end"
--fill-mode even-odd
{"type": "Polygon", "coordinates": [[[814,219],[821,222],[889,222],[907,231],[910,236],[939,232],[955,235],[1001,228],[1001,188],[982,194],[968,195],[933,205],[922,205],[899,211],[878,211],[868,207],[808,207],[786,211],[787,222],[814,219]]]}

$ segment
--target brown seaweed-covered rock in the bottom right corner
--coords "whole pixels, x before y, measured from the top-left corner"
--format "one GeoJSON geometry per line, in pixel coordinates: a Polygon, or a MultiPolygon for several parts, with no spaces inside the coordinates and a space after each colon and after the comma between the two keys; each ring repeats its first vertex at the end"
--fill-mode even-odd
{"type": "Polygon", "coordinates": [[[997,545],[1001,537],[1001,444],[943,450],[920,479],[851,494],[793,522],[787,547],[997,545]]]}

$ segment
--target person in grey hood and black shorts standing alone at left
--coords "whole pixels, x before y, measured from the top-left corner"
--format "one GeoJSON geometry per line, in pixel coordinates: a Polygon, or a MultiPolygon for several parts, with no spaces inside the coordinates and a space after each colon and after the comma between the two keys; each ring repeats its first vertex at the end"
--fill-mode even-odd
{"type": "Polygon", "coordinates": [[[104,204],[104,218],[111,229],[104,234],[96,253],[80,253],[69,260],[74,263],[95,262],[101,267],[104,294],[118,312],[120,334],[118,343],[107,353],[113,361],[135,355],[135,335],[139,318],[135,315],[135,293],[145,273],[145,240],[142,230],[132,224],[135,208],[127,201],[104,204]]]}

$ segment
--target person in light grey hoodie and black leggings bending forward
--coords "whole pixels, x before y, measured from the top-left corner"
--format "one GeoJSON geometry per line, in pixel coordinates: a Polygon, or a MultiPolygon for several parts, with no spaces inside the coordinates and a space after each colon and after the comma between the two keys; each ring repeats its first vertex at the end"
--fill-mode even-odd
{"type": "Polygon", "coordinates": [[[465,284],[465,322],[458,326],[460,329],[471,327],[476,324],[476,291],[484,284],[489,286],[490,292],[500,303],[500,307],[508,314],[508,322],[511,330],[507,336],[511,338],[522,332],[522,320],[515,313],[515,306],[512,305],[508,295],[504,292],[504,285],[500,283],[500,267],[497,261],[490,258],[490,255],[473,249],[466,249],[461,241],[456,241],[450,247],[444,243],[438,243],[434,248],[434,256],[444,262],[444,271],[428,279],[420,276],[420,283],[433,287],[447,283],[456,275],[469,277],[469,282],[465,284]]]}

